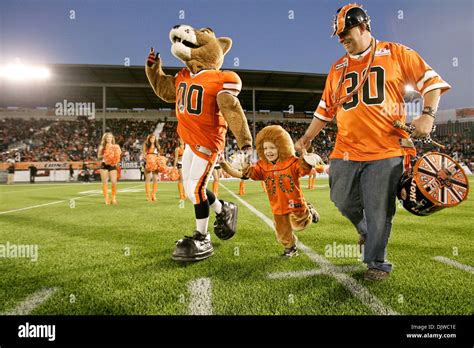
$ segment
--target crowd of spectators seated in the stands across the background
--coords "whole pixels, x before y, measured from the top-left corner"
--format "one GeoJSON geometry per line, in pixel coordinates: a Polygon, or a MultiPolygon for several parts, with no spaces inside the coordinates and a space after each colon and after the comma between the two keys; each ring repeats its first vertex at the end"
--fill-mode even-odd
{"type": "MultiPolygon", "coordinates": [[[[285,128],[294,141],[299,139],[308,127],[308,123],[294,121],[256,122],[255,134],[269,124],[279,124],[285,128]]],[[[102,136],[102,121],[86,118],[71,121],[53,120],[0,120],[0,146],[2,162],[14,159],[21,162],[40,161],[96,161],[97,148],[102,136]]],[[[140,161],[143,141],[150,133],[160,130],[159,142],[162,154],[173,163],[174,149],[178,144],[176,121],[143,119],[107,119],[106,130],[115,135],[116,142],[122,148],[125,161],[140,161]],[[161,128],[162,126],[162,128],[161,128]]],[[[459,127],[438,126],[433,139],[446,146],[442,152],[450,154],[457,161],[472,168],[474,122],[459,127]],[[456,131],[457,132],[454,132],[456,131]]],[[[251,133],[253,124],[249,123],[251,133]]],[[[329,123],[313,141],[314,151],[327,163],[336,141],[336,124],[329,123]]],[[[419,144],[419,143],[418,143],[419,144]]],[[[418,145],[422,149],[421,145],[418,145]]],[[[436,150],[424,145],[422,152],[436,150]]],[[[231,132],[227,135],[226,156],[237,151],[237,143],[231,132]]]]}

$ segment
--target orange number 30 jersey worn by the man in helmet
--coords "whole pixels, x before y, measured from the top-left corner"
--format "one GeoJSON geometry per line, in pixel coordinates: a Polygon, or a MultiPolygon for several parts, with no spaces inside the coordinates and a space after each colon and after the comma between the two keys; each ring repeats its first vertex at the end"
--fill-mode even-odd
{"type": "Polygon", "coordinates": [[[329,122],[337,118],[336,145],[330,158],[352,161],[372,161],[402,156],[400,138],[405,131],[393,126],[394,120],[406,121],[404,93],[407,85],[422,95],[434,90],[451,88],[426,62],[410,48],[392,42],[377,41],[375,58],[364,86],[335,112],[339,89],[342,97],[350,94],[361,82],[363,70],[371,58],[371,49],[356,56],[344,56],[331,67],[326,86],[314,117],[329,122]]]}

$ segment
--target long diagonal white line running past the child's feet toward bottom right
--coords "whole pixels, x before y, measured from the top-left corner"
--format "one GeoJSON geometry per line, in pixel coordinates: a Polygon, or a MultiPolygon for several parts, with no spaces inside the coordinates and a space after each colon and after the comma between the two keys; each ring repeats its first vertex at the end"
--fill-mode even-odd
{"type": "MultiPolygon", "coordinates": [[[[262,219],[271,229],[274,228],[273,221],[270,220],[266,215],[259,212],[255,207],[241,199],[226,186],[221,186],[229,192],[235,199],[245,205],[252,213],[262,219]]],[[[321,267],[321,272],[324,274],[334,277],[339,283],[341,283],[347,290],[349,290],[356,298],[358,298],[363,304],[369,307],[374,313],[380,315],[397,315],[398,313],[391,309],[389,306],[384,305],[375,295],[372,295],[369,290],[364,286],[360,285],[355,279],[342,273],[334,266],[329,260],[323,256],[317,254],[311,248],[307,247],[301,242],[298,242],[298,247],[316,264],[321,267]]]]}

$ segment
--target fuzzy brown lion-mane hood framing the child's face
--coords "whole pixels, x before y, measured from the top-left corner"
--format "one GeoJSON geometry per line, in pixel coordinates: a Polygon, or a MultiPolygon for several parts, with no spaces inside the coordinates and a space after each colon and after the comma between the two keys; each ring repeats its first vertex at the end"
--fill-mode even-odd
{"type": "Polygon", "coordinates": [[[278,149],[278,161],[286,161],[295,156],[295,146],[290,134],[281,126],[267,126],[257,134],[257,154],[262,161],[268,162],[263,151],[263,143],[269,141],[278,149]]]}

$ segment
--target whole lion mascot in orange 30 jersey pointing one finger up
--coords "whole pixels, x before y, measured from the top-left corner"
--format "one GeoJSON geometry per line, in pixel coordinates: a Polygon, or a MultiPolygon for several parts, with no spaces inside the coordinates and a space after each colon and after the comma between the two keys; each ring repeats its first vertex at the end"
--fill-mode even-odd
{"type": "Polygon", "coordinates": [[[237,227],[237,205],[217,200],[206,189],[216,160],[224,150],[227,128],[241,150],[251,151],[252,136],[237,96],[242,89],[239,76],[219,70],[232,40],[217,38],[210,28],[177,25],[170,31],[171,52],[185,68],[175,76],[162,70],[160,55],[153,48],[145,72],[155,94],[176,103],[178,134],[185,143],[182,158],[183,185],[194,204],[196,227],[192,236],[176,242],[173,259],[198,261],[210,257],[214,248],[208,232],[209,211],[216,213],[214,233],[229,239],[237,227]]]}

